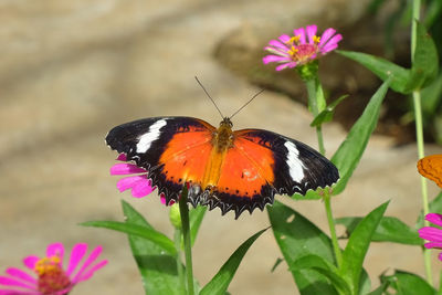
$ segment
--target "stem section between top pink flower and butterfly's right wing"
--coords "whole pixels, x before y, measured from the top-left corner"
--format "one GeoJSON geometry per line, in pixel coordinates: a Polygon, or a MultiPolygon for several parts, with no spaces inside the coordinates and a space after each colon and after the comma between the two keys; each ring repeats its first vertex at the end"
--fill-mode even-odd
{"type": "MultiPolygon", "coordinates": [[[[318,77],[314,77],[311,80],[305,80],[305,84],[307,86],[308,93],[308,107],[316,118],[316,116],[325,108],[325,98],[323,87],[320,86],[318,77]]],[[[323,139],[323,129],[319,126],[316,127],[316,136],[318,139],[319,152],[325,155],[324,139],[323,139]]]]}

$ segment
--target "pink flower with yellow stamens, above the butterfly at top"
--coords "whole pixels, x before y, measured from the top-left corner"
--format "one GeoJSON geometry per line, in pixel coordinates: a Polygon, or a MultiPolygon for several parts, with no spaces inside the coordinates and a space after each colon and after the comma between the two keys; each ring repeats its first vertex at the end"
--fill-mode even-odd
{"type": "Polygon", "coordinates": [[[303,65],[337,49],[343,39],[332,28],[325,30],[322,36],[317,36],[316,31],[317,27],[313,24],[293,30],[293,36],[283,34],[278,40],[271,40],[264,50],[272,54],[263,57],[264,64],[280,63],[276,71],[303,65]]]}

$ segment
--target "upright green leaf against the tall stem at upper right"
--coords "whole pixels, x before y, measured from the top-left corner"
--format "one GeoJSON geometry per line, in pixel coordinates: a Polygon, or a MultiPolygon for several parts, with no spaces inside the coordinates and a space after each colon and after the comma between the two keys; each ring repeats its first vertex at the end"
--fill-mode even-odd
{"type": "Polygon", "coordinates": [[[439,70],[438,50],[431,36],[427,33],[425,27],[417,22],[417,40],[414,61],[411,67],[411,80],[419,81],[419,88],[431,84],[439,70]]]}

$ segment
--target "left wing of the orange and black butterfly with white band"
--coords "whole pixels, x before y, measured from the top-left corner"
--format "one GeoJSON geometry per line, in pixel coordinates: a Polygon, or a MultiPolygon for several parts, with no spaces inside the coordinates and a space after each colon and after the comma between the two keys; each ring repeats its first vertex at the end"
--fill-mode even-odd
{"type": "Polygon", "coordinates": [[[198,185],[202,178],[214,130],[213,126],[197,118],[156,117],[113,128],[106,143],[145,168],[152,185],[169,202],[178,200],[185,181],[198,185]]]}

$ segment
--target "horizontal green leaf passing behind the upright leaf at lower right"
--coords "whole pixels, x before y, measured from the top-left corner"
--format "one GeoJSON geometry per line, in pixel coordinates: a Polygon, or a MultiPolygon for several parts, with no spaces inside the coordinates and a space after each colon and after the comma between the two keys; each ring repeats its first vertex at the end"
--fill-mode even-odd
{"type": "MultiPolygon", "coordinates": [[[[362,218],[339,218],[336,219],[337,224],[346,226],[346,232],[351,235],[356,226],[362,218]]],[[[418,231],[408,226],[397,218],[383,217],[373,235],[373,242],[393,242],[408,245],[422,245],[422,239],[419,238],[418,231]]]]}

